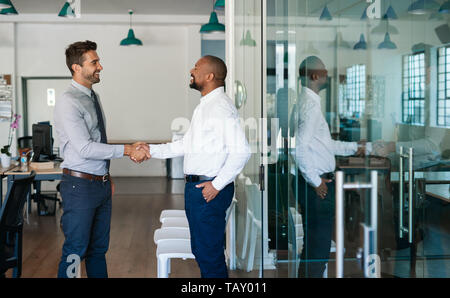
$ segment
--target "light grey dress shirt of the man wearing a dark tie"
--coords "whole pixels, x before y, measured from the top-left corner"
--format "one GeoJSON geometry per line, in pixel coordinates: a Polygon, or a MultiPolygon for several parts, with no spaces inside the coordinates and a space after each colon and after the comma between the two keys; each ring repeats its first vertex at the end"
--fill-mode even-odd
{"type": "MultiPolygon", "coordinates": [[[[102,176],[107,173],[106,160],[122,157],[124,146],[100,142],[91,94],[91,89],[72,80],[69,88],[56,101],[53,119],[60,153],[64,158],[61,168],[102,176]]],[[[96,95],[100,102],[99,95],[96,95]]]]}

